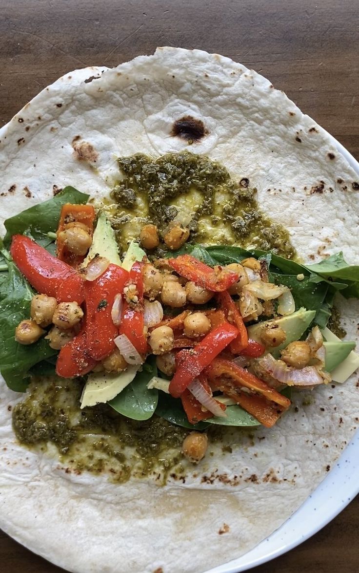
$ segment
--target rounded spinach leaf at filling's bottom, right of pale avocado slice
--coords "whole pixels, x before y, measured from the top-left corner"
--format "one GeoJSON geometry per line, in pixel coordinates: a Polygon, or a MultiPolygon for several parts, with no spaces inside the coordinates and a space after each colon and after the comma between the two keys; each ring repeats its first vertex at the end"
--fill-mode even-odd
{"type": "Polygon", "coordinates": [[[156,357],[151,356],[137,372],[135,379],[109,403],[114,410],[133,420],[147,420],[153,415],[158,401],[158,390],[149,390],[147,384],[157,375],[156,357]]]}

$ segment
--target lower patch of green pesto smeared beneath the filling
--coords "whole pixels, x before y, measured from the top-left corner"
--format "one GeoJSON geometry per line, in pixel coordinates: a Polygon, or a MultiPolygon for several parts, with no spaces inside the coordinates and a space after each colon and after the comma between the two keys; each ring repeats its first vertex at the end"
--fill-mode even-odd
{"type": "MultiPolygon", "coordinates": [[[[154,415],[135,421],[106,404],[80,409],[83,382],[34,379],[13,409],[15,434],[28,448],[57,453],[69,471],[106,472],[113,481],[180,472],[182,442],[190,430],[154,415]],[[53,452],[56,446],[57,452],[53,452]]],[[[212,439],[220,439],[217,429],[212,439]]]]}

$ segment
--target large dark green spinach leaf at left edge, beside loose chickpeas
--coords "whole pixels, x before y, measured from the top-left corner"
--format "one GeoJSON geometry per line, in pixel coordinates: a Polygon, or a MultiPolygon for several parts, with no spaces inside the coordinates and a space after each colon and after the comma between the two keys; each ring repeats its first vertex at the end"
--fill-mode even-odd
{"type": "Polygon", "coordinates": [[[41,360],[57,354],[43,337],[29,346],[15,340],[15,328],[23,319],[30,316],[30,303],[33,297],[26,278],[11,261],[9,254],[2,250],[9,268],[8,276],[0,286],[0,371],[11,390],[24,392],[30,368],[41,360]]]}

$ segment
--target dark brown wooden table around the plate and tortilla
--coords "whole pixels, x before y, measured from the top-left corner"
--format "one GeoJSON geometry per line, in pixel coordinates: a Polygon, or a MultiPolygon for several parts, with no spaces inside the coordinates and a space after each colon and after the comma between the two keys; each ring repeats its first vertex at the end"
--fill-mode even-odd
{"type": "MultiPolygon", "coordinates": [[[[182,46],[262,73],[359,159],[357,0],[2,0],[1,15],[2,123],[65,72],[182,46]]],[[[357,498],[310,540],[252,571],[357,573],[358,531],[357,498]]],[[[61,571],[1,532],[0,570],[61,571]]]]}

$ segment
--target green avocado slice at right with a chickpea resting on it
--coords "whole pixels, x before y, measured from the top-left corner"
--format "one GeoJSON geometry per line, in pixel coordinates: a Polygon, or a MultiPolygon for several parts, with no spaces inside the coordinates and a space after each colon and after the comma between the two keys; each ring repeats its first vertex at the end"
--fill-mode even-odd
{"type": "Polygon", "coordinates": [[[286,333],[285,342],[279,346],[267,348],[267,351],[270,352],[274,358],[278,358],[279,351],[281,351],[282,348],[288,346],[290,342],[294,342],[294,340],[299,340],[301,338],[303,333],[309,327],[311,321],[314,319],[314,316],[315,311],[306,311],[306,309],[302,307],[291,315],[282,316],[279,319],[264,320],[258,324],[253,324],[248,327],[248,337],[256,342],[262,342],[261,333],[266,327],[274,324],[281,327],[286,333]]]}

